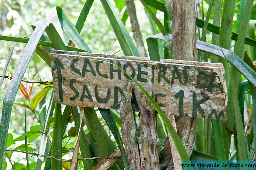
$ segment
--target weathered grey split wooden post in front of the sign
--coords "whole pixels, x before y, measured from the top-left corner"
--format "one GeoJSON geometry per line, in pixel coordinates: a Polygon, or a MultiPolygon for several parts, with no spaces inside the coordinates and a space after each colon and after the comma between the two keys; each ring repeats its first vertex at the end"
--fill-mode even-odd
{"type": "Polygon", "coordinates": [[[156,136],[156,113],[152,104],[140,94],[140,124],[138,133],[131,104],[132,86],[127,85],[120,112],[122,119],[123,143],[130,170],[159,170],[158,137],[156,136]],[[137,138],[138,135],[138,138],[137,138]]]}

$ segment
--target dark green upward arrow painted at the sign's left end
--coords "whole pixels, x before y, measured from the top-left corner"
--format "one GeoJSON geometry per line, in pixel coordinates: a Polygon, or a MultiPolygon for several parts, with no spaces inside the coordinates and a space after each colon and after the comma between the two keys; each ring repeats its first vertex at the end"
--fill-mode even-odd
{"type": "Polygon", "coordinates": [[[57,69],[58,74],[58,87],[59,87],[59,99],[61,102],[63,102],[63,91],[62,91],[62,74],[61,69],[65,69],[62,62],[59,60],[59,58],[55,58],[54,64],[53,64],[53,70],[57,69]]]}

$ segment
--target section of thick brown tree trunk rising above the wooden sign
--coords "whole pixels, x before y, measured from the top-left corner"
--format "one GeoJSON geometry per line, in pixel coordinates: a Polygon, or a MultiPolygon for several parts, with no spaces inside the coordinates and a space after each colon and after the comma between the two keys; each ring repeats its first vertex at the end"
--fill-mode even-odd
{"type": "Polygon", "coordinates": [[[175,60],[197,60],[194,0],[172,1],[172,49],[175,60]]]}

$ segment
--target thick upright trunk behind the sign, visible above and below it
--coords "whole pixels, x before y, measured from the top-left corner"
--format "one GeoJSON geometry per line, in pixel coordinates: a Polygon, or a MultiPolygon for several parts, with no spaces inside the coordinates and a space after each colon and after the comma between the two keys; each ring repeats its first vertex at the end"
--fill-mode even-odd
{"type": "MultiPolygon", "coordinates": [[[[173,59],[197,60],[196,12],[194,0],[172,1],[172,49],[173,59]]],[[[187,117],[176,117],[175,119],[178,135],[187,153],[190,155],[193,148],[196,119],[187,117]]]]}

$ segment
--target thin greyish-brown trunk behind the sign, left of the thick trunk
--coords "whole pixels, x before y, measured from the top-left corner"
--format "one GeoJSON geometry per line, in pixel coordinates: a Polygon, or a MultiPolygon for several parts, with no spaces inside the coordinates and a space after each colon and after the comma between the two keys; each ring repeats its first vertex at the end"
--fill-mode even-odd
{"type": "Polygon", "coordinates": [[[130,17],[130,23],[132,25],[133,38],[135,40],[140,57],[147,57],[147,53],[144,47],[142,34],[139,28],[139,22],[136,15],[136,8],[133,0],[126,0],[126,10],[130,17]]]}

